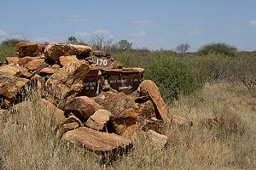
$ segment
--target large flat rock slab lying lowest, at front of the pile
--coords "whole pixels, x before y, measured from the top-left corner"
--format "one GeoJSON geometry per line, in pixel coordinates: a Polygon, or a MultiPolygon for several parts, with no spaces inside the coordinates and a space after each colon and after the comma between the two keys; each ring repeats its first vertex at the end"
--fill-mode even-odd
{"type": "Polygon", "coordinates": [[[83,145],[88,150],[99,153],[121,150],[131,146],[130,139],[124,139],[114,133],[102,133],[88,127],[79,127],[75,130],[68,131],[63,134],[61,140],[83,145]]]}

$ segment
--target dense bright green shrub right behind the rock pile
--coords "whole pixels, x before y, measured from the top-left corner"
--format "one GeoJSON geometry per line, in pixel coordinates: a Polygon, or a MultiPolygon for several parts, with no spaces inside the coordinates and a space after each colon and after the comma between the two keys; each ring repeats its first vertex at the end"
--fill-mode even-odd
{"type": "Polygon", "coordinates": [[[204,84],[201,75],[179,59],[162,59],[150,65],[145,78],[154,81],[164,99],[171,102],[180,94],[191,94],[204,84]]]}

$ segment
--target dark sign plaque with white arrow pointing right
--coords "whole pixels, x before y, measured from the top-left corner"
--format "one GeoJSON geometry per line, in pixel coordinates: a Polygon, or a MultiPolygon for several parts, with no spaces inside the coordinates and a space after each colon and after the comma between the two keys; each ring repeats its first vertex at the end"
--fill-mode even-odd
{"type": "Polygon", "coordinates": [[[110,87],[125,94],[131,94],[131,92],[137,90],[141,82],[142,75],[140,73],[126,72],[119,75],[109,75],[108,77],[110,87]]]}

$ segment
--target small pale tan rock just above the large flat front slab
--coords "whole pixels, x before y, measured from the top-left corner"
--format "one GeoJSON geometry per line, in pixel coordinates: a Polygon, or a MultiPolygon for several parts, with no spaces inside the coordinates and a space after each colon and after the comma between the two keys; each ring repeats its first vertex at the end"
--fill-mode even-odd
{"type": "Polygon", "coordinates": [[[89,119],[85,122],[85,126],[102,131],[112,116],[113,115],[110,111],[99,109],[89,117],[89,119]]]}

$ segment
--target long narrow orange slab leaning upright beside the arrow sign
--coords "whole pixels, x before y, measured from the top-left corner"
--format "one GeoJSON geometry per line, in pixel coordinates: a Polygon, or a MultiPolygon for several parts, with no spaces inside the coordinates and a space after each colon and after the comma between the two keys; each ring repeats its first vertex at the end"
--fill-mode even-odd
{"type": "Polygon", "coordinates": [[[164,122],[171,122],[169,115],[169,108],[165,101],[162,99],[159,89],[156,84],[151,80],[144,80],[139,87],[140,94],[143,96],[149,96],[155,107],[156,118],[163,120],[164,122]]]}

